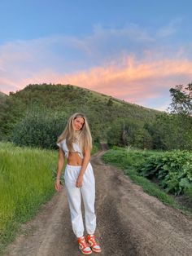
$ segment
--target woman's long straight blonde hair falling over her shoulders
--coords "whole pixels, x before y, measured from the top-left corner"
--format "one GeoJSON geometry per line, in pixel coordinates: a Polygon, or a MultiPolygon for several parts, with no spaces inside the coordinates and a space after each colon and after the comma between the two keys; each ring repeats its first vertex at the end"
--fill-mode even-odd
{"type": "Polygon", "coordinates": [[[63,130],[63,133],[58,138],[58,143],[62,141],[63,139],[66,139],[66,143],[69,149],[69,152],[74,152],[74,149],[72,147],[72,143],[79,143],[79,146],[81,148],[81,152],[85,152],[85,148],[89,148],[91,151],[92,149],[92,137],[89,130],[89,124],[84,114],[82,113],[74,113],[71,117],[68,119],[68,124],[63,130]],[[73,129],[73,121],[77,118],[81,117],[84,119],[84,124],[81,128],[81,130],[75,131],[73,129]]]}

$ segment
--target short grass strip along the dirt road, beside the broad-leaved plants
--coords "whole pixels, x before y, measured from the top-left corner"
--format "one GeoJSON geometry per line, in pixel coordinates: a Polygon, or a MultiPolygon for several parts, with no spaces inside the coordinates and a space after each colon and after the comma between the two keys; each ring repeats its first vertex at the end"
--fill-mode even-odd
{"type": "Polygon", "coordinates": [[[156,151],[116,148],[107,151],[103,155],[103,161],[124,170],[124,174],[128,175],[134,183],[141,186],[144,192],[157,197],[164,204],[183,210],[185,214],[192,216],[192,210],[189,207],[181,205],[173,196],[168,195],[163,189],[159,188],[156,183],[152,183],[149,179],[137,173],[137,166],[144,163],[147,157],[160,153],[156,151]]]}

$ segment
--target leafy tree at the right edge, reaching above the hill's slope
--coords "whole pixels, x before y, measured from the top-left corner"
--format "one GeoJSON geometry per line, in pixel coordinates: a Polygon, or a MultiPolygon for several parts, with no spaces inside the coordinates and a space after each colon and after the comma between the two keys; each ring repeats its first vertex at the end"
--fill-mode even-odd
{"type": "Polygon", "coordinates": [[[156,117],[153,126],[146,129],[153,138],[153,148],[192,148],[192,83],[171,88],[172,103],[168,113],[156,117]]]}

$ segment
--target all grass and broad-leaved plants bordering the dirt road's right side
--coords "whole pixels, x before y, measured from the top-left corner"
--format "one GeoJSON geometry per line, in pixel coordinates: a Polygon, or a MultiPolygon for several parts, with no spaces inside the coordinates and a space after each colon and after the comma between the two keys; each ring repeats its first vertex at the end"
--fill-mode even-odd
{"type": "Polygon", "coordinates": [[[192,152],[115,147],[103,155],[103,161],[120,167],[151,196],[192,214],[192,152]],[[179,204],[171,195],[185,195],[190,207],[179,204]]]}

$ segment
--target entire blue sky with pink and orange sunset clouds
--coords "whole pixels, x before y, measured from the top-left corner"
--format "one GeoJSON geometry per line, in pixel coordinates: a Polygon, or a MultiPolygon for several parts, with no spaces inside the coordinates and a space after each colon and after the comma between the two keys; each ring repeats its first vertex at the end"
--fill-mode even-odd
{"type": "Polygon", "coordinates": [[[0,91],[72,84],[166,110],[192,82],[190,0],[0,0],[0,91]]]}

